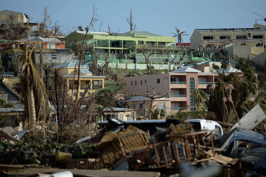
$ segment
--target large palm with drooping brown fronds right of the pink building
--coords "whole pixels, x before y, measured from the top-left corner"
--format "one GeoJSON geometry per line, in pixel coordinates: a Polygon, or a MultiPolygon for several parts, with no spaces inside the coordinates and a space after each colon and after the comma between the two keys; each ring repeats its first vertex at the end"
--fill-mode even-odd
{"type": "Polygon", "coordinates": [[[243,117],[249,97],[258,91],[255,68],[243,59],[239,63],[240,72],[219,73],[218,80],[209,97],[208,111],[216,113],[217,121],[228,123],[243,117]],[[231,97],[230,97],[231,95],[231,97]]]}

